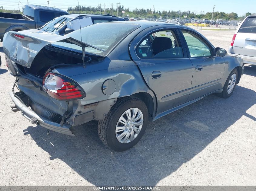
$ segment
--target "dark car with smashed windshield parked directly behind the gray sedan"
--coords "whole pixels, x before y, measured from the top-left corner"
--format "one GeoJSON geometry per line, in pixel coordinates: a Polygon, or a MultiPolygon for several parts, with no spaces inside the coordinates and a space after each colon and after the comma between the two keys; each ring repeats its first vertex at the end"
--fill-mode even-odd
{"type": "MultiPolygon", "coordinates": [[[[83,28],[91,24],[111,21],[125,21],[125,19],[103,14],[65,14],[45,24],[42,28],[40,28],[40,31],[51,32],[58,35],[65,35],[73,32],[74,30],[80,29],[80,26],[81,28],[83,28]]],[[[37,32],[36,30],[30,31],[37,32]]]]}

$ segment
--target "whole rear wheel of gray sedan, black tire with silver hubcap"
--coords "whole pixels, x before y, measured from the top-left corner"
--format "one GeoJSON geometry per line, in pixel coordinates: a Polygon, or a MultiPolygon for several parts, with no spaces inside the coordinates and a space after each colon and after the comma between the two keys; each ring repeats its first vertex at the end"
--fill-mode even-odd
{"type": "Polygon", "coordinates": [[[121,98],[105,119],[98,122],[101,141],[114,151],[125,151],[136,145],[148,124],[148,108],[137,97],[121,98]]]}

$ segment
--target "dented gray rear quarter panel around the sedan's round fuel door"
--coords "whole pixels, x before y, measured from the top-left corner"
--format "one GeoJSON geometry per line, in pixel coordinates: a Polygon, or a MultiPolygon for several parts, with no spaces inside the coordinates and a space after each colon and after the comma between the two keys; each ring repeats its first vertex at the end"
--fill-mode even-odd
{"type": "Polygon", "coordinates": [[[81,65],[62,67],[54,69],[53,72],[65,75],[81,86],[86,97],[79,100],[80,105],[147,92],[153,98],[154,107],[156,107],[155,94],[148,88],[138,66],[131,60],[106,58],[104,61],[88,64],[86,68],[81,65]],[[74,71],[83,73],[75,74],[74,71]],[[111,95],[105,95],[102,92],[102,85],[108,79],[112,79],[116,84],[115,92],[111,95]]]}

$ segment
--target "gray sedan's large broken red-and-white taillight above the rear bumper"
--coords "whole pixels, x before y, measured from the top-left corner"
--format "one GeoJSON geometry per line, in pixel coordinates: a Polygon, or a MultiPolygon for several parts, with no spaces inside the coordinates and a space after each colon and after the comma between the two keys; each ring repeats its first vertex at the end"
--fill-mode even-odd
{"type": "Polygon", "coordinates": [[[85,97],[85,93],[75,82],[52,72],[45,75],[43,87],[47,94],[56,100],[68,101],[85,97]]]}

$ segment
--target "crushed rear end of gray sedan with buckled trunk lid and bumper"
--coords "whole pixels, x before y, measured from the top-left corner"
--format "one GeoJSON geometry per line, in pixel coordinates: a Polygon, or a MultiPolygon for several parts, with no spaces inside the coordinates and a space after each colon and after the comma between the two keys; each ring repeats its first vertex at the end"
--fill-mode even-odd
{"type": "Polygon", "coordinates": [[[58,67],[56,65],[60,63],[62,66],[79,65],[82,59],[81,55],[77,53],[70,55],[68,51],[61,51],[49,46],[49,44],[65,40],[67,37],[54,35],[53,38],[48,35],[45,38],[42,35],[24,31],[8,32],[4,36],[3,49],[6,65],[10,73],[16,77],[13,89],[9,92],[15,104],[12,106],[12,110],[14,112],[20,110],[21,114],[32,124],[35,123],[66,135],[74,135],[72,126],[95,119],[93,108],[97,104],[88,108],[82,105],[79,99],[85,97],[85,92],[76,81],[62,75],[55,78],[68,81],[63,80],[63,84],[66,83],[64,88],[67,89],[60,89],[62,91],[60,94],[64,98],[50,96],[52,92],[48,92],[43,85],[44,78],[49,78],[53,74],[51,72],[58,67]],[[78,97],[77,94],[81,95],[78,97]],[[71,99],[73,97],[77,97],[77,99],[71,99]]]}

